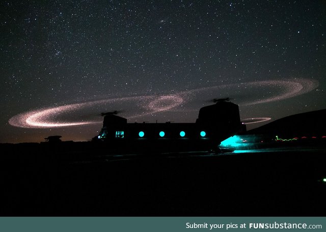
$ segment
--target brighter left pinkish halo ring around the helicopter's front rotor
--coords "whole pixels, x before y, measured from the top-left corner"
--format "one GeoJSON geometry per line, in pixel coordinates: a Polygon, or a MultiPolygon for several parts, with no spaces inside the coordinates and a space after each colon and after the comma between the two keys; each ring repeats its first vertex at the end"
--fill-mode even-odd
{"type": "Polygon", "coordinates": [[[60,107],[25,112],[10,118],[9,124],[25,128],[47,128],[97,124],[101,123],[103,119],[93,118],[91,120],[82,119],[80,121],[70,121],[69,119],[61,119],[61,117],[68,116],[71,118],[71,115],[85,114],[84,111],[87,111],[88,109],[91,109],[93,112],[95,110],[98,111],[97,108],[99,106],[102,106],[104,109],[108,106],[111,109],[120,109],[121,104],[124,102],[127,105],[125,108],[131,109],[122,116],[125,118],[135,118],[170,110],[182,104],[183,99],[174,94],[164,96],[148,95],[94,100],[78,104],[70,104],[60,107]],[[141,111],[139,109],[141,109],[141,111]],[[57,117],[60,119],[57,119],[57,117]]]}

